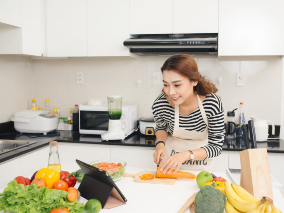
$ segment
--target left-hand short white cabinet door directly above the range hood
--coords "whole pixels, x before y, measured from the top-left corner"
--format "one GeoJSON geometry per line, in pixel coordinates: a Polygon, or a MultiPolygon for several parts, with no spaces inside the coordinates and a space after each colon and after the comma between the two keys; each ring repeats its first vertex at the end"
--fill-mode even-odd
{"type": "Polygon", "coordinates": [[[173,0],[130,0],[130,34],[171,34],[173,0]]]}

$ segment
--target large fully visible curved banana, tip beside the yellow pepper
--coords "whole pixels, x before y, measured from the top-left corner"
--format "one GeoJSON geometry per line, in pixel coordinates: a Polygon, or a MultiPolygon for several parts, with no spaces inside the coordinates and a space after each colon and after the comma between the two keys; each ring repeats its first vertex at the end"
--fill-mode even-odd
{"type": "Polygon", "coordinates": [[[241,212],[249,212],[253,209],[256,209],[261,204],[260,200],[255,202],[245,201],[235,192],[233,187],[228,182],[225,182],[225,194],[230,204],[241,212]]]}

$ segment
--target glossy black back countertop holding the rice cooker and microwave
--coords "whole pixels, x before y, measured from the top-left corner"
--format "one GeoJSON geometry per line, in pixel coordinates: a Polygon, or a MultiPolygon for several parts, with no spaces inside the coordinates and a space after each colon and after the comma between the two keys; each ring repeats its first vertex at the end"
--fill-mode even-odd
{"type": "MultiPolygon", "coordinates": [[[[140,146],[140,147],[155,147],[156,137],[142,135],[139,132],[133,133],[125,138],[123,141],[104,141],[100,135],[87,135],[80,134],[77,131],[56,131],[48,133],[46,136],[37,137],[33,134],[20,135],[16,131],[7,132],[0,135],[0,139],[9,140],[28,140],[37,141],[31,145],[20,147],[18,149],[0,153],[0,163],[12,159],[14,157],[26,154],[44,146],[48,146],[50,141],[69,142],[69,143],[92,143],[92,144],[105,144],[105,145],[120,145],[120,146],[140,146]]],[[[249,144],[251,147],[251,144],[249,144]]],[[[284,141],[282,139],[269,138],[268,141],[258,142],[257,148],[266,148],[267,152],[284,153],[284,141]]],[[[225,139],[223,150],[224,151],[242,151],[245,145],[242,138],[225,139]]]]}

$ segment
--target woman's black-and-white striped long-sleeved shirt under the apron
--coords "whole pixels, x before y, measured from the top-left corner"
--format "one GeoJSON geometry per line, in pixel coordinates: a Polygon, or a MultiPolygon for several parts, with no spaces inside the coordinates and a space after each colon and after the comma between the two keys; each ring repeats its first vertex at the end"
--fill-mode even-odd
{"type": "MultiPolygon", "coordinates": [[[[202,102],[204,111],[208,118],[208,145],[202,146],[206,150],[207,158],[218,156],[223,147],[225,137],[224,110],[220,98],[212,93],[205,97],[202,102]]],[[[152,112],[156,123],[155,132],[165,130],[173,133],[175,123],[175,109],[162,93],[154,101],[152,112]]],[[[179,115],[179,127],[185,130],[203,132],[206,129],[199,107],[187,116],[179,115]]]]}

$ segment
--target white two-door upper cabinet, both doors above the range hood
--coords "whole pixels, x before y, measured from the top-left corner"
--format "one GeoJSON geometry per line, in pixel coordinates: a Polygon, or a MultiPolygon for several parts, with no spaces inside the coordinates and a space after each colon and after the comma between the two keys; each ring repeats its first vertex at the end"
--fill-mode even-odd
{"type": "Polygon", "coordinates": [[[218,33],[218,0],[130,0],[130,34],[218,33]]]}

